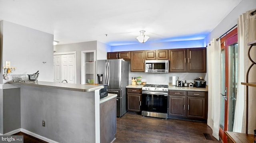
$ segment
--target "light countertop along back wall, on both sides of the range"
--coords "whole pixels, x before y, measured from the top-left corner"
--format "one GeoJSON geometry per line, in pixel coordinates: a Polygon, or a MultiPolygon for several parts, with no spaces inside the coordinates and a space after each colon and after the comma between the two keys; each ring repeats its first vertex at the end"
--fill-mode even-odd
{"type": "MultiPolygon", "coordinates": [[[[126,88],[142,88],[143,85],[128,85],[126,88]]],[[[170,86],[168,90],[186,90],[186,91],[208,91],[208,86],[206,88],[197,88],[197,87],[177,87],[177,86],[170,86]]]]}

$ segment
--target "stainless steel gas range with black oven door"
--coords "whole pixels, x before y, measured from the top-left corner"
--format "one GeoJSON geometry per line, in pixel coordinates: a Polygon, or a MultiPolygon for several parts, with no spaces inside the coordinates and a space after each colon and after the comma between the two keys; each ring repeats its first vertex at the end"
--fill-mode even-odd
{"type": "Polygon", "coordinates": [[[142,116],[168,118],[168,85],[142,87],[142,116]]]}

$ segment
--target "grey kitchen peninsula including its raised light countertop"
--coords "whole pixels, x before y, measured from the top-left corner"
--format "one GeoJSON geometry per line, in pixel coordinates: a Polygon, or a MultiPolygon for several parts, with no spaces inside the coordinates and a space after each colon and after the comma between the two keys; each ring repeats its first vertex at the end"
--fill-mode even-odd
{"type": "Polygon", "coordinates": [[[100,143],[115,139],[116,94],[100,99],[99,91],[104,86],[42,81],[8,83],[20,88],[20,131],[54,143],[100,143]],[[109,118],[113,120],[110,123],[109,118]],[[108,131],[109,128],[112,130],[108,131]]]}

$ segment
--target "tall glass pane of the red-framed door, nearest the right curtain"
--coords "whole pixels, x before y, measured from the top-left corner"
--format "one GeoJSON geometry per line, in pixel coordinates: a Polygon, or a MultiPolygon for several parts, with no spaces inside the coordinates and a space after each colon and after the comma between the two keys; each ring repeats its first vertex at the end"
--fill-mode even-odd
{"type": "Polygon", "coordinates": [[[228,131],[233,131],[234,114],[236,108],[237,78],[238,78],[238,43],[229,46],[229,100],[228,100],[228,131]]]}

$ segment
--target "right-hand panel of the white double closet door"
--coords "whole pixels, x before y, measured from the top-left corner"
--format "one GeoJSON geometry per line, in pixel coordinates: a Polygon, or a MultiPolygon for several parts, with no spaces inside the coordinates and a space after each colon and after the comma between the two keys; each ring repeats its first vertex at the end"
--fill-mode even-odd
{"type": "Polygon", "coordinates": [[[68,83],[75,83],[75,54],[61,55],[61,76],[62,80],[68,83]]]}

